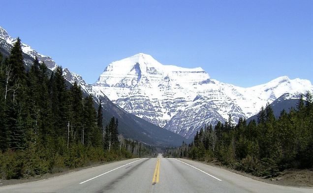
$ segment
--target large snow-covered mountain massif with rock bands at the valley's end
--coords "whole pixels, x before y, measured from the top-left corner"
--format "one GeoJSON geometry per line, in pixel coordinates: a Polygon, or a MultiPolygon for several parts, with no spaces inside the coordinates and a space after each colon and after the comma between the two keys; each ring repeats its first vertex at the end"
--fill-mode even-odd
{"type": "Polygon", "coordinates": [[[287,76],[266,84],[242,88],[212,79],[201,67],[163,65],[139,53],[109,64],[94,83],[127,112],[164,129],[191,138],[206,124],[234,123],[249,118],[280,96],[312,91],[309,80],[287,76]]]}

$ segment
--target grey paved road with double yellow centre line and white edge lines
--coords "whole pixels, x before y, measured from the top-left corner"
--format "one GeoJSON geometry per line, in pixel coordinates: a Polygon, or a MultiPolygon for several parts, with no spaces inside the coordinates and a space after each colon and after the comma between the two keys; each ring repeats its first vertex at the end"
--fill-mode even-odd
{"type": "Polygon", "coordinates": [[[158,155],[3,186],[0,193],[313,193],[313,189],[267,184],[197,161],[158,155]]]}

